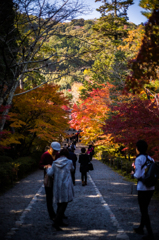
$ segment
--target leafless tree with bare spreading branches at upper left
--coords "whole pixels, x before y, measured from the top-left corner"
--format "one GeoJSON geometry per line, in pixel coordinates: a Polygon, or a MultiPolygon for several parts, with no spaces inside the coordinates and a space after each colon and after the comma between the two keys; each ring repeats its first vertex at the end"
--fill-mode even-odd
{"type": "MultiPolygon", "coordinates": [[[[48,47],[46,43],[51,36],[59,34],[56,28],[58,23],[72,20],[87,7],[85,8],[84,4],[78,0],[53,3],[45,0],[9,0],[5,1],[5,4],[3,4],[4,1],[1,2],[0,24],[2,26],[4,23],[4,26],[2,26],[0,38],[1,47],[4,47],[4,50],[0,50],[0,68],[3,68],[0,105],[7,106],[12,103],[19,84],[21,88],[24,87],[24,82],[27,85],[27,81],[31,88],[35,85],[37,87],[39,82],[44,84],[46,81],[43,75],[48,73],[48,66],[51,65],[56,74],[61,63],[75,57],[70,52],[68,55],[65,55],[65,52],[58,55],[57,51],[48,47]],[[34,76],[38,81],[34,80],[31,85],[30,82],[34,76]]],[[[5,110],[2,113],[1,130],[4,128],[4,116],[7,112],[8,110],[5,110]]]]}

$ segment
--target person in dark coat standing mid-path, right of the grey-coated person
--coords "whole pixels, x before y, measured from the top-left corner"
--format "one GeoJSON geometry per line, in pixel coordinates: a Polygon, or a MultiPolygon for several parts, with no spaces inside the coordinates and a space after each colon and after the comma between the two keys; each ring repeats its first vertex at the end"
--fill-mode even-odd
{"type": "Polygon", "coordinates": [[[90,158],[88,154],[86,154],[86,149],[83,147],[81,148],[81,154],[79,155],[82,186],[87,185],[87,172],[88,172],[89,162],[90,162],[90,158]]]}

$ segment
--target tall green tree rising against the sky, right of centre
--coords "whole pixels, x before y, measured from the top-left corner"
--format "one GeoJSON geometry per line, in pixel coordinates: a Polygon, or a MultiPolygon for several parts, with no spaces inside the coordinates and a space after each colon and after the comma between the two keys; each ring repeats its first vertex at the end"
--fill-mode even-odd
{"type": "MultiPolygon", "coordinates": [[[[104,0],[102,3],[98,9],[101,18],[93,25],[94,32],[90,37],[92,45],[86,55],[94,60],[88,74],[93,80],[92,88],[98,88],[97,83],[110,82],[122,89],[128,68],[127,55],[119,47],[123,46],[128,31],[135,27],[127,21],[127,9],[133,1],[104,0]]],[[[87,86],[90,89],[90,83],[87,86]]]]}

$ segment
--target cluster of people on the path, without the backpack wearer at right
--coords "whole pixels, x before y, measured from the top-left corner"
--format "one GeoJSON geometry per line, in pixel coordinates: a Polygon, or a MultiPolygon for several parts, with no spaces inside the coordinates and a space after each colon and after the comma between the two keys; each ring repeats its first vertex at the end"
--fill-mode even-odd
{"type": "MultiPolygon", "coordinates": [[[[75,142],[71,146],[61,149],[58,142],[52,142],[50,148],[41,156],[39,168],[44,170],[44,186],[46,193],[47,210],[53,226],[56,230],[62,230],[61,226],[67,224],[63,222],[65,210],[68,202],[73,200],[75,185],[75,171],[77,156],[74,153],[75,142]],[[53,203],[57,204],[55,213],[53,203]]],[[[86,149],[81,149],[79,157],[82,186],[87,184],[87,164],[90,161],[90,153],[86,154],[86,149]]]]}

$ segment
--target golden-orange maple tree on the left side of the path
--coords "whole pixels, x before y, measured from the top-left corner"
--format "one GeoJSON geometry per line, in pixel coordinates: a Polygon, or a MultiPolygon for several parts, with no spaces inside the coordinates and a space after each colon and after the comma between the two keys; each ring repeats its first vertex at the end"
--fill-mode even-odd
{"type": "MultiPolygon", "coordinates": [[[[68,100],[57,85],[46,84],[34,91],[16,96],[9,113],[9,127],[14,133],[9,141],[16,153],[27,155],[37,147],[43,149],[51,141],[59,141],[68,127],[68,114],[64,108],[68,100]]],[[[18,90],[21,92],[22,90],[18,90]]],[[[8,139],[3,139],[7,145],[8,139]]]]}

